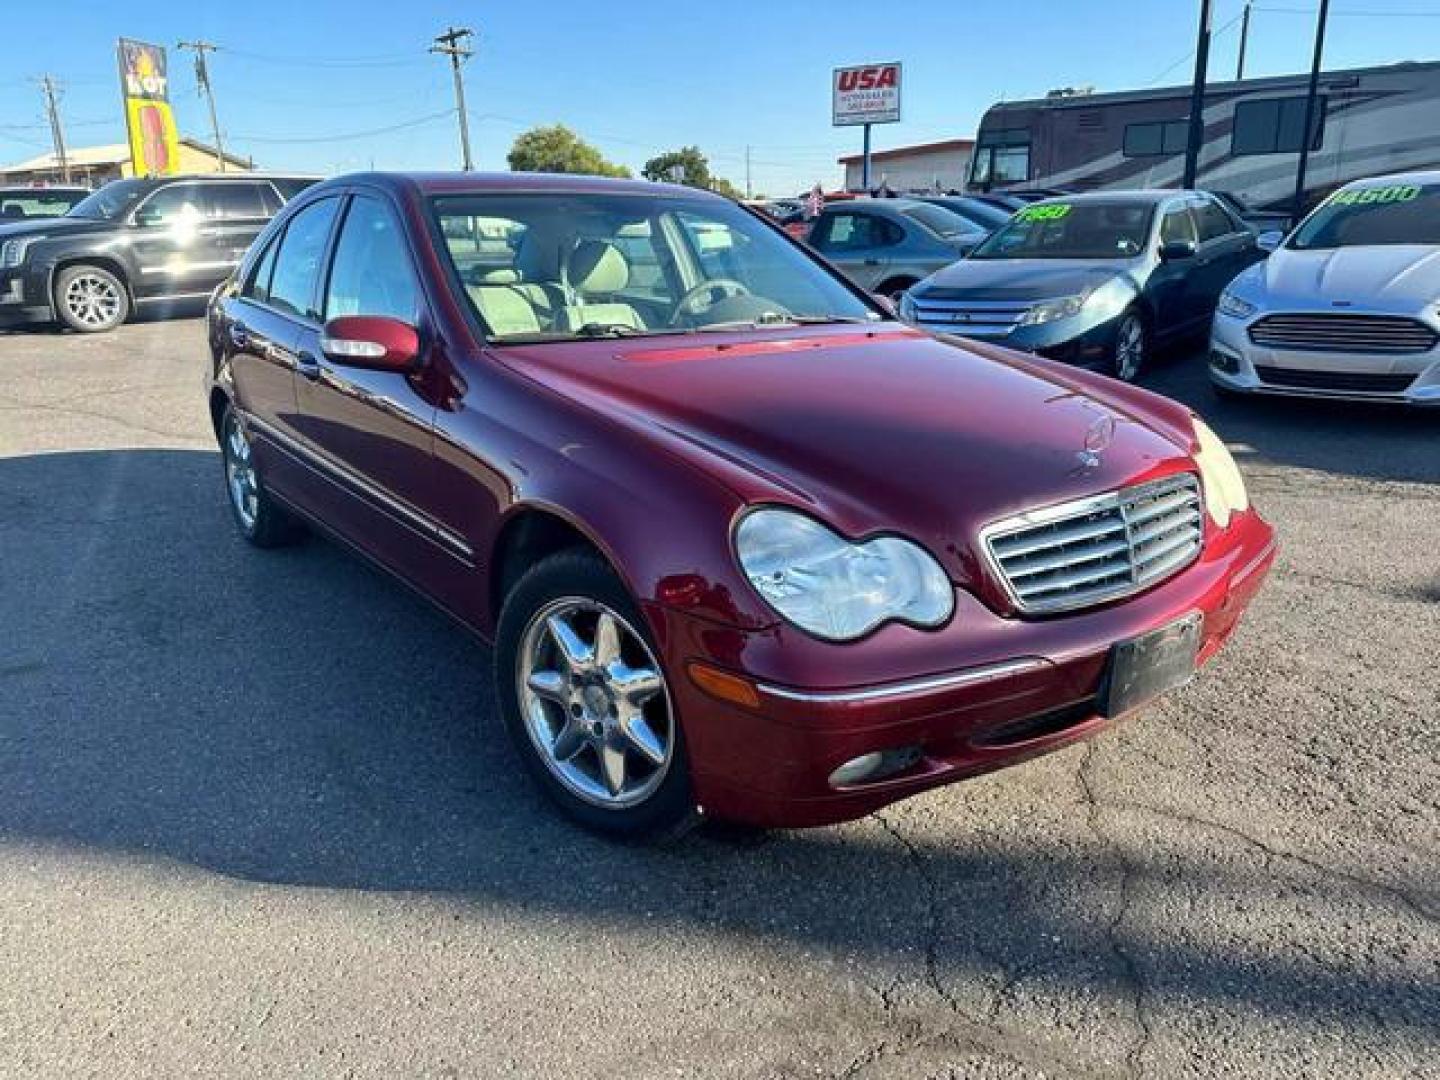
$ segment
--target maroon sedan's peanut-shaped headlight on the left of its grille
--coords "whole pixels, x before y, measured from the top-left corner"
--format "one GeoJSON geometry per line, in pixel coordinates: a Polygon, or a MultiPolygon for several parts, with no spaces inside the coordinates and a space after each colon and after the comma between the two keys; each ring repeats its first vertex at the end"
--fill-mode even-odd
{"type": "Polygon", "coordinates": [[[734,533],[746,577],[785,619],[851,641],[891,619],[939,626],[955,611],[940,564],[897,536],[851,543],[791,510],[753,510],[734,533]]]}

